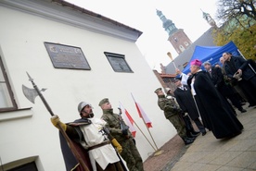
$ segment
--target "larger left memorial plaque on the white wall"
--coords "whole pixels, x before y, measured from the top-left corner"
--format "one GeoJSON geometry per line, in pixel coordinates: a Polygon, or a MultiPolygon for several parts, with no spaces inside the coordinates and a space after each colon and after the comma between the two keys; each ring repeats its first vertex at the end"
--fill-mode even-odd
{"type": "Polygon", "coordinates": [[[56,68],[91,69],[80,47],[58,43],[45,43],[45,47],[56,68]]]}

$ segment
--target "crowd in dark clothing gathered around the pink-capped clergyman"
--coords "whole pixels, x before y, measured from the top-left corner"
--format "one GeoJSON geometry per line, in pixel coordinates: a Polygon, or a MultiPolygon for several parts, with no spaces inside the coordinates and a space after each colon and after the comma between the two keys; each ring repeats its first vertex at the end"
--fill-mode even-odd
{"type": "MultiPolygon", "coordinates": [[[[241,133],[243,125],[237,119],[235,109],[245,113],[245,102],[249,103],[249,107],[256,105],[256,65],[252,60],[228,52],[220,57],[220,62],[223,67],[219,64],[212,67],[209,61],[202,63],[195,59],[190,63],[188,74],[176,68],[177,77],[173,79],[176,89],[173,92],[167,90],[164,95],[160,89],[156,90],[160,109],[164,111],[166,118],[170,120],[169,117],[178,111],[176,115],[181,123],[171,121],[178,134],[179,127],[186,125],[189,128],[191,125],[181,119],[184,116],[194,121],[202,135],[206,134],[206,128],[212,131],[216,139],[232,138],[241,133]],[[178,110],[173,110],[172,113],[168,104],[162,104],[162,101],[168,101],[168,95],[178,104],[173,105],[178,110]],[[180,126],[176,126],[177,124],[180,126]]],[[[189,132],[189,129],[186,128],[186,131],[189,132]]]]}

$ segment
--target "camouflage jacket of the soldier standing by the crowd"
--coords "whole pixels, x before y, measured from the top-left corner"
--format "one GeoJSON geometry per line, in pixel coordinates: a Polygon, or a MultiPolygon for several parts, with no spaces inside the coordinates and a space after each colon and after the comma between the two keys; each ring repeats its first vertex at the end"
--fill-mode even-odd
{"type": "Polygon", "coordinates": [[[177,105],[173,99],[166,98],[164,95],[159,96],[158,104],[166,118],[182,113],[179,105],[177,105]]]}

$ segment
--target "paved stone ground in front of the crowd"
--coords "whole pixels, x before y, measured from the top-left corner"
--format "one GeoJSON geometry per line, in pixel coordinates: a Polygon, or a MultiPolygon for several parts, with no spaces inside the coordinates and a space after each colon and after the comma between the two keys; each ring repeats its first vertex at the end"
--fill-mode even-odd
{"type": "Polygon", "coordinates": [[[177,135],[166,142],[160,155],[152,154],[144,162],[145,171],[256,171],[256,108],[237,111],[244,125],[242,134],[229,140],[217,140],[208,131],[185,146],[177,135]]]}

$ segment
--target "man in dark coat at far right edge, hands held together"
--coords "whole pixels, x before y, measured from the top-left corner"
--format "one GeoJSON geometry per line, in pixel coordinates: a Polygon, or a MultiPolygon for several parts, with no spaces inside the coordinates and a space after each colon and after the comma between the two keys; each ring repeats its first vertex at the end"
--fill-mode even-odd
{"type": "Polygon", "coordinates": [[[224,71],[229,79],[237,79],[238,86],[246,95],[249,106],[256,105],[256,73],[249,61],[241,56],[225,52],[224,71]]]}

